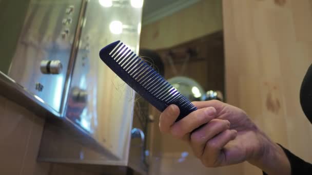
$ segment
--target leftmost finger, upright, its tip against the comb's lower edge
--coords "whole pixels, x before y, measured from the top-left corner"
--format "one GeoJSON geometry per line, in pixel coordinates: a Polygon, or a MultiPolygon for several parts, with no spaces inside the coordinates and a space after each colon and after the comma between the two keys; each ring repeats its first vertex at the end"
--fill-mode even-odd
{"type": "Polygon", "coordinates": [[[168,133],[170,127],[174,124],[180,114],[180,109],[177,105],[171,104],[160,115],[159,128],[162,133],[168,133]]]}

